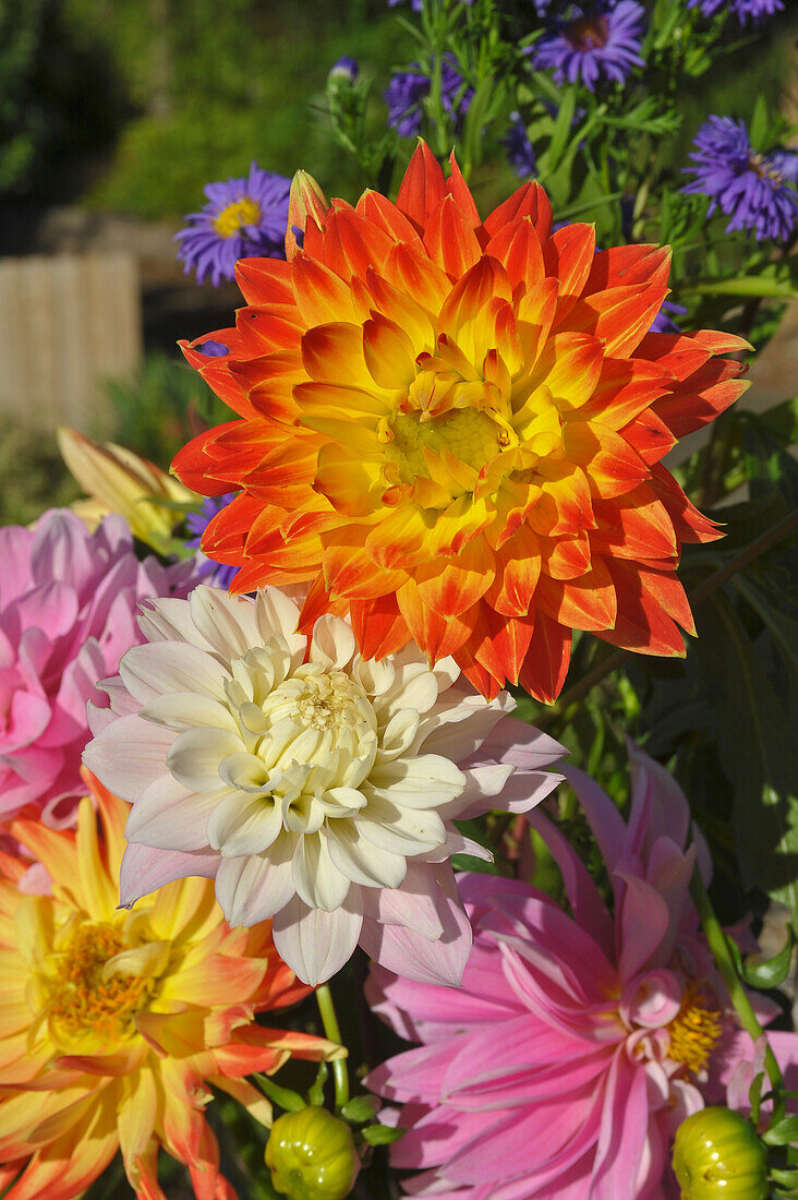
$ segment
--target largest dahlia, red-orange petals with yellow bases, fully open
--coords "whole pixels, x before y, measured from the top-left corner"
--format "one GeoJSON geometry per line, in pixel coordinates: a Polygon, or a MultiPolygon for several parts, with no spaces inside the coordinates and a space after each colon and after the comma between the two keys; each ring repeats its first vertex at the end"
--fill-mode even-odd
{"type": "Polygon", "coordinates": [[[680,544],[718,533],[660,460],[739,396],[715,355],[746,343],[649,332],[668,250],[552,233],[534,182],[482,221],[424,143],[396,204],[305,212],[289,262],[239,263],[229,353],[185,348],[239,416],[174,462],[240,488],[203,541],[234,590],[310,582],[301,629],[348,612],[365,656],[414,638],[488,697],[552,700],[574,629],[683,654],[680,544]]]}

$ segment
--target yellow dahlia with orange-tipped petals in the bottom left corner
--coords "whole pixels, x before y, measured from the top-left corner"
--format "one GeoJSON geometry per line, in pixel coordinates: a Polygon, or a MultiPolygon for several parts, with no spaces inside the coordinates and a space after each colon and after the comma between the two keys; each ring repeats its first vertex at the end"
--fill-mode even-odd
{"type": "Polygon", "coordinates": [[[36,821],[12,834],[52,893],[19,887],[29,863],[0,853],[0,1189],[4,1200],[67,1200],[121,1147],[137,1196],[166,1200],[158,1145],[188,1166],[199,1200],[235,1193],[204,1117],[208,1084],[264,1124],[241,1076],[290,1055],[335,1056],[322,1038],[257,1025],[256,1013],[311,990],[277,958],[271,923],[230,930],[212,881],[181,880],[132,912],[116,908],[130,805],[88,773],[77,832],[36,821]]]}

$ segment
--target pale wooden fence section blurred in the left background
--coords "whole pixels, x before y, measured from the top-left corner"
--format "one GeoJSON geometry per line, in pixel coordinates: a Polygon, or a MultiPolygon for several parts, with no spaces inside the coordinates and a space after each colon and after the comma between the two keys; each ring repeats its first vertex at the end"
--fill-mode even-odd
{"type": "Polygon", "coordinates": [[[136,258],[125,251],[0,259],[0,416],[102,432],[104,379],[142,358],[136,258]]]}

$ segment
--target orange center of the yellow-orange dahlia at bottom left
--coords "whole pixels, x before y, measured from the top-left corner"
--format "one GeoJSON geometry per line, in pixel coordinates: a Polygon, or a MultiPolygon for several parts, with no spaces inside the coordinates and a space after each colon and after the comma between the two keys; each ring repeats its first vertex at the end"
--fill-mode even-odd
{"type": "Polygon", "coordinates": [[[131,1019],[149,1000],[148,980],[114,970],[128,947],[109,924],[83,924],[48,964],[46,1009],[53,1038],[61,1044],[85,1034],[125,1037],[131,1019]]]}

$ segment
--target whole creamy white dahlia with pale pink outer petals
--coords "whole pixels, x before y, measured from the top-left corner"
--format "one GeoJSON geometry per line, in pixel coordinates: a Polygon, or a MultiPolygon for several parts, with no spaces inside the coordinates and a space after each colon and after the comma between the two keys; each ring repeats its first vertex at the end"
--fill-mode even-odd
{"type": "Polygon", "coordinates": [[[472,930],[448,859],[486,852],[452,822],[526,812],[560,779],[539,768],[563,748],[451,659],[362,659],[332,616],[296,634],[276,588],[251,600],[203,586],[151,607],[84,755],[133,804],[122,902],[214,876],[232,925],[274,917],[305,983],[358,942],[414,978],[457,982],[472,930]]]}

